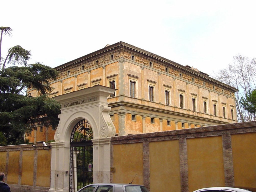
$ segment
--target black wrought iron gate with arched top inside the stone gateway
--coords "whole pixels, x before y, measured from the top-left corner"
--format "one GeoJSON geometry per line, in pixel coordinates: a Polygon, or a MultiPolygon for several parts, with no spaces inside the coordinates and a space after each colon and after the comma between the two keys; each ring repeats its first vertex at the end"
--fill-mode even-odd
{"type": "Polygon", "coordinates": [[[93,182],[92,139],[93,133],[89,122],[79,121],[70,137],[70,192],[76,192],[93,182]]]}

